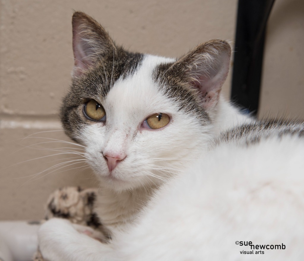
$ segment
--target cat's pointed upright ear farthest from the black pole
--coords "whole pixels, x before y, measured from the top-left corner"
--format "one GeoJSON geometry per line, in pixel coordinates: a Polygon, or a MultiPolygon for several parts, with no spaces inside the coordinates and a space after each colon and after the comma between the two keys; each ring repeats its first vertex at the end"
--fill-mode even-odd
{"type": "Polygon", "coordinates": [[[105,29],[83,12],[74,12],[73,26],[73,76],[80,76],[98,59],[116,49],[114,41],[105,29]]]}

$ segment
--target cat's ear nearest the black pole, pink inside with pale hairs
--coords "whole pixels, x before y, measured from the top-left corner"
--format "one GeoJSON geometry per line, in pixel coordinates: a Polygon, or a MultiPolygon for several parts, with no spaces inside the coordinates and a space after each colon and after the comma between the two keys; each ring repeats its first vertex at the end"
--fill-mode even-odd
{"type": "Polygon", "coordinates": [[[231,47],[223,40],[211,40],[197,46],[173,66],[190,88],[199,91],[206,110],[216,106],[230,67],[231,47]]]}

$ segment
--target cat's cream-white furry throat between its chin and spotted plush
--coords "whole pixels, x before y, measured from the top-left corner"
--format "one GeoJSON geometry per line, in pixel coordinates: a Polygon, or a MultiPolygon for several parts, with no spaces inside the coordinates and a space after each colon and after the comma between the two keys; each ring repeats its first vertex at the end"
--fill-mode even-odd
{"type": "Polygon", "coordinates": [[[95,211],[102,224],[111,232],[124,230],[147,205],[156,189],[156,186],[145,186],[117,192],[109,188],[101,188],[95,211]]]}

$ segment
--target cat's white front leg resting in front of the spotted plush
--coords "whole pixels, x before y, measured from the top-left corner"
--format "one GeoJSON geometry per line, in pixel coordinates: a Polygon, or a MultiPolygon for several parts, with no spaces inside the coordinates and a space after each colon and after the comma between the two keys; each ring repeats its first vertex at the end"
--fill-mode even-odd
{"type": "Polygon", "coordinates": [[[64,219],[50,219],[38,231],[39,248],[48,261],[102,261],[111,252],[110,244],[103,244],[79,233],[64,219]]]}

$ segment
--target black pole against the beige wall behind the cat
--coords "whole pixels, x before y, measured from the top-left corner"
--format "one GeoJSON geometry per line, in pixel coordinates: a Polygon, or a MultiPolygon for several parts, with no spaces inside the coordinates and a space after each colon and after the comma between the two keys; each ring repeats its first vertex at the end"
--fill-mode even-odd
{"type": "Polygon", "coordinates": [[[265,28],[275,0],[239,0],[231,99],[257,113],[265,28]]]}

